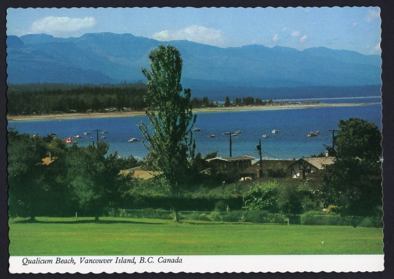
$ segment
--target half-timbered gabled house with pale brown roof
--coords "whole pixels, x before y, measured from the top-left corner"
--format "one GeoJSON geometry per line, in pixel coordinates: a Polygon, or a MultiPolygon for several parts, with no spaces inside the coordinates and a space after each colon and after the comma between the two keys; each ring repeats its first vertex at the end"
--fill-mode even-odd
{"type": "Polygon", "coordinates": [[[304,157],[296,160],[289,166],[293,178],[306,179],[307,176],[314,176],[318,171],[322,171],[327,165],[334,163],[335,157],[304,157]]]}

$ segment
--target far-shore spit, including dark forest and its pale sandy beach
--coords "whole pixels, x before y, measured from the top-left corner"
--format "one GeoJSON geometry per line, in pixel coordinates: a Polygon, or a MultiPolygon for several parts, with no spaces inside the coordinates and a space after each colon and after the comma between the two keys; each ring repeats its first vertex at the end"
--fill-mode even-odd
{"type": "MultiPolygon", "coordinates": [[[[141,82],[119,85],[62,85],[35,84],[9,85],[7,90],[7,119],[67,119],[142,115],[147,104],[144,100],[146,86],[141,82]]],[[[189,105],[195,112],[269,110],[310,106],[333,106],[322,102],[277,102],[245,96],[224,102],[213,101],[208,96],[193,97],[189,105]]],[[[349,105],[349,104],[335,104],[349,105]]],[[[355,105],[355,104],[352,104],[355,105]]]]}

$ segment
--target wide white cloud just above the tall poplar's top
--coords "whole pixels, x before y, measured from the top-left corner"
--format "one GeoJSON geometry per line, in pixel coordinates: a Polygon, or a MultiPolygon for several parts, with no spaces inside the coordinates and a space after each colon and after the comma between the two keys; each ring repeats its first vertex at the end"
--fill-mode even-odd
{"type": "Polygon", "coordinates": [[[202,44],[223,46],[225,39],[220,30],[192,25],[181,30],[156,32],[152,38],[159,41],[188,40],[202,44]]]}

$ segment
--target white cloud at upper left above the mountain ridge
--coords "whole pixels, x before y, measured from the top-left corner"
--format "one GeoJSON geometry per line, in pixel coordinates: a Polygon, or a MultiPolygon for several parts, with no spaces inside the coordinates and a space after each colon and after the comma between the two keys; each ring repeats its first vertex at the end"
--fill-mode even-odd
{"type": "Polygon", "coordinates": [[[33,33],[55,35],[75,32],[81,29],[94,27],[95,25],[96,19],[94,17],[70,18],[48,16],[34,21],[31,26],[31,31],[33,33]]]}

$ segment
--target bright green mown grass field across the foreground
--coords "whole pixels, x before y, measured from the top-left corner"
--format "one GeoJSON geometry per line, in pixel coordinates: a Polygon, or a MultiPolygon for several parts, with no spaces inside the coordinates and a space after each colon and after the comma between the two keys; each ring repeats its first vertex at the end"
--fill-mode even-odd
{"type": "Polygon", "coordinates": [[[381,228],[159,219],[9,220],[11,256],[382,254],[381,228]]]}

